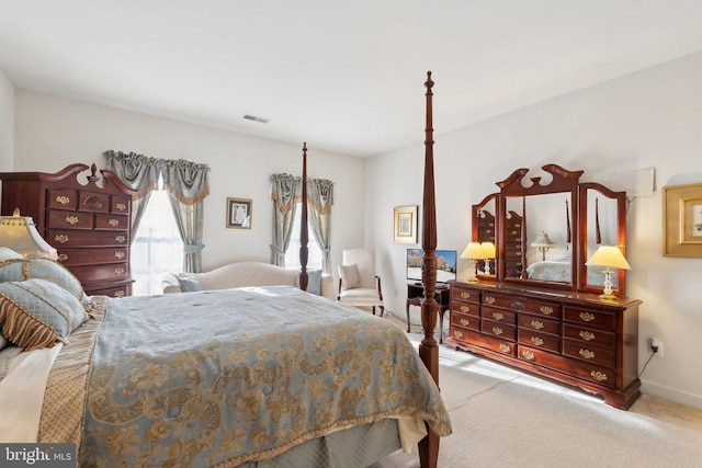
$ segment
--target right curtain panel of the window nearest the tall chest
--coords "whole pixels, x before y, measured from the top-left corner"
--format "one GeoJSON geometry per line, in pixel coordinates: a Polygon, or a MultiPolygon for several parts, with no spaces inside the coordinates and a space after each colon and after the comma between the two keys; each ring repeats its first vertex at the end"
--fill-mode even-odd
{"type": "Polygon", "coordinates": [[[183,239],[183,271],[202,272],[204,198],[210,194],[206,164],[185,161],[166,161],[162,170],[163,190],[176,216],[183,239]]]}

